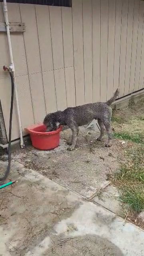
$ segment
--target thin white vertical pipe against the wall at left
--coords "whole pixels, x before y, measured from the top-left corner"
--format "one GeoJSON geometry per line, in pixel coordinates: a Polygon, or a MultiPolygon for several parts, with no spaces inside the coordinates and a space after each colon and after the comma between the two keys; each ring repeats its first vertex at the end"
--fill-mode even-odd
{"type": "Polygon", "coordinates": [[[16,108],[17,108],[17,114],[18,114],[18,123],[19,123],[19,129],[20,129],[20,147],[24,148],[24,141],[22,137],[22,126],[21,126],[21,120],[20,120],[20,108],[18,104],[18,92],[17,92],[17,86],[16,86],[16,76],[15,76],[15,69],[14,69],[14,62],[13,62],[13,56],[12,56],[12,44],[10,40],[10,28],[9,28],[9,22],[8,22],[8,9],[6,5],[6,0],[3,0],[3,12],[4,12],[4,20],[6,22],[6,33],[8,38],[8,48],[10,53],[10,68],[12,69],[12,72],[14,74],[14,93],[16,98],[16,108]]]}

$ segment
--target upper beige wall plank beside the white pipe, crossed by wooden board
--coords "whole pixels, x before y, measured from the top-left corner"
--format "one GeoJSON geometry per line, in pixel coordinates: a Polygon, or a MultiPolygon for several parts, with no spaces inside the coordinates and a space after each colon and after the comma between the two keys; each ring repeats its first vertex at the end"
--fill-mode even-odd
{"type": "MultiPolygon", "coordinates": [[[[8,3],[8,19],[10,22],[21,22],[19,4],[8,3]]],[[[23,33],[11,33],[12,54],[14,59],[14,66],[16,76],[28,74],[26,63],[26,52],[24,48],[23,33]]]]}

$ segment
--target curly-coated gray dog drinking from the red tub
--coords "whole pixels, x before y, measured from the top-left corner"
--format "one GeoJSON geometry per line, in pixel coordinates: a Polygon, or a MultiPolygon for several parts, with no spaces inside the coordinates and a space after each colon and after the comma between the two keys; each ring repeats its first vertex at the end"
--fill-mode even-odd
{"type": "Polygon", "coordinates": [[[47,131],[49,132],[57,130],[60,125],[68,126],[72,130],[72,142],[68,143],[72,146],[68,148],[68,150],[74,150],[78,138],[78,126],[88,124],[92,120],[96,119],[100,126],[100,136],[97,140],[102,140],[105,127],[108,132],[108,142],[105,146],[110,147],[112,140],[110,125],[112,108],[110,105],[116,100],[118,94],[119,91],[117,89],[114,96],[107,102],[89,103],[82,106],[76,106],[74,108],[66,108],[64,111],[47,114],[44,118],[44,125],[47,127],[47,131]]]}

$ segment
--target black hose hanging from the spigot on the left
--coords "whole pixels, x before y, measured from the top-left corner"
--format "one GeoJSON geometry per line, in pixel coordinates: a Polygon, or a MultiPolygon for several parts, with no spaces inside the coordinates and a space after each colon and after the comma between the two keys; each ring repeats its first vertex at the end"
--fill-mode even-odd
{"type": "Polygon", "coordinates": [[[4,67],[4,70],[8,70],[10,73],[11,84],[12,84],[12,94],[11,94],[11,104],[10,104],[10,124],[9,124],[9,137],[8,137],[8,167],[3,177],[0,177],[0,181],[6,180],[8,174],[10,173],[10,162],[11,162],[11,135],[12,135],[12,111],[14,102],[14,75],[10,68],[4,67]]]}

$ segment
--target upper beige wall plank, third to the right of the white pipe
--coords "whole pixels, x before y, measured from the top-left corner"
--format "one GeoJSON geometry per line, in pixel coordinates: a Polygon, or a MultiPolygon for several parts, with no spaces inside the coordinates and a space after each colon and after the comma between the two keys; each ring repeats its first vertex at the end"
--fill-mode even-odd
{"type": "Polygon", "coordinates": [[[35,8],[42,71],[53,70],[49,7],[36,5],[35,8]]]}

